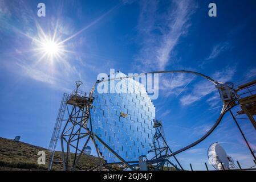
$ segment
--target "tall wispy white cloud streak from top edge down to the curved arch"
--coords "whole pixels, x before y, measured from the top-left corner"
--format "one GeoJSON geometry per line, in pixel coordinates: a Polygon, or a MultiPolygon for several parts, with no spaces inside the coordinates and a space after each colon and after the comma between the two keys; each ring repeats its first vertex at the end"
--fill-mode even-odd
{"type": "Polygon", "coordinates": [[[141,1],[139,31],[142,37],[140,55],[136,57],[140,69],[164,69],[181,36],[188,32],[194,1],[173,1],[159,14],[159,1],[141,1]]]}

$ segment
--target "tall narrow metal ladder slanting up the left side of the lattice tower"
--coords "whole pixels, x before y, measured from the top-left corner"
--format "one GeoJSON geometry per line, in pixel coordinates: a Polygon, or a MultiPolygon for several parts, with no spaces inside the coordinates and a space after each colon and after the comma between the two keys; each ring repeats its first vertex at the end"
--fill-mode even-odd
{"type": "Polygon", "coordinates": [[[50,162],[48,164],[48,171],[51,171],[51,168],[52,168],[52,162],[54,160],[54,153],[55,153],[55,149],[56,149],[56,146],[58,143],[60,129],[62,127],[62,122],[64,121],[63,118],[64,118],[64,114],[65,114],[65,110],[66,110],[68,96],[69,95],[66,93],[63,94],[62,102],[61,102],[60,108],[59,108],[58,117],[56,119],[54,131],[52,133],[51,141],[50,141],[50,144],[48,147],[48,150],[50,150],[50,153],[51,153],[50,162]]]}

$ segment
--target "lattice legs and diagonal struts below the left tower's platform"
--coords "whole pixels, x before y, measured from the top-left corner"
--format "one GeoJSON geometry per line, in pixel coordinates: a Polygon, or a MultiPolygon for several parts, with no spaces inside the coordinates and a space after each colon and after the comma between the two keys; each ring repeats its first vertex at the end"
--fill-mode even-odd
{"type": "MultiPolygon", "coordinates": [[[[78,107],[73,105],[72,110],[68,110],[68,121],[64,126],[62,135],[60,137],[62,144],[62,158],[63,158],[63,166],[64,170],[74,170],[79,163],[81,156],[84,154],[84,150],[88,145],[88,142],[91,140],[94,143],[96,148],[97,157],[99,159],[98,165],[91,170],[101,169],[101,167],[105,167],[111,169],[111,167],[107,166],[104,163],[100,152],[97,148],[95,140],[99,140],[101,144],[103,144],[110,152],[112,152],[116,157],[123,163],[126,167],[133,170],[133,168],[123,159],[121,158],[111,147],[109,147],[103,140],[101,140],[93,131],[92,131],[92,123],[90,117],[90,103],[88,102],[84,107],[78,107]],[[83,139],[86,138],[84,142],[83,139]],[[74,154],[71,156],[71,148],[74,150],[74,154]]],[[[112,168],[114,169],[114,168],[112,168]]]]}

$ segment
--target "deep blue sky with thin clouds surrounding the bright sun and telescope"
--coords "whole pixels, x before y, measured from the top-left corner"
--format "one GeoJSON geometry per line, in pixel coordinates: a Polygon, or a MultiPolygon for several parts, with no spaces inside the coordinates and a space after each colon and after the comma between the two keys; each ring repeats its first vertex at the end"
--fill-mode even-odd
{"type": "MultiPolygon", "coordinates": [[[[63,93],[99,73],[189,69],[235,86],[255,79],[255,1],[3,1],[0,0],[0,137],[48,147],[63,93]],[[46,17],[37,16],[44,2],[46,17]],[[208,16],[210,2],[217,17],[208,16]],[[48,59],[36,49],[45,35],[65,52],[48,59]]],[[[153,103],[173,151],[200,138],[221,110],[218,92],[191,75],[162,75],[153,103]]],[[[239,108],[234,108],[239,110],[239,108]]],[[[251,146],[256,135],[239,121],[251,146]]],[[[198,146],[177,155],[185,168],[204,169],[207,149],[220,142],[242,167],[253,159],[226,115],[198,146]]]]}

